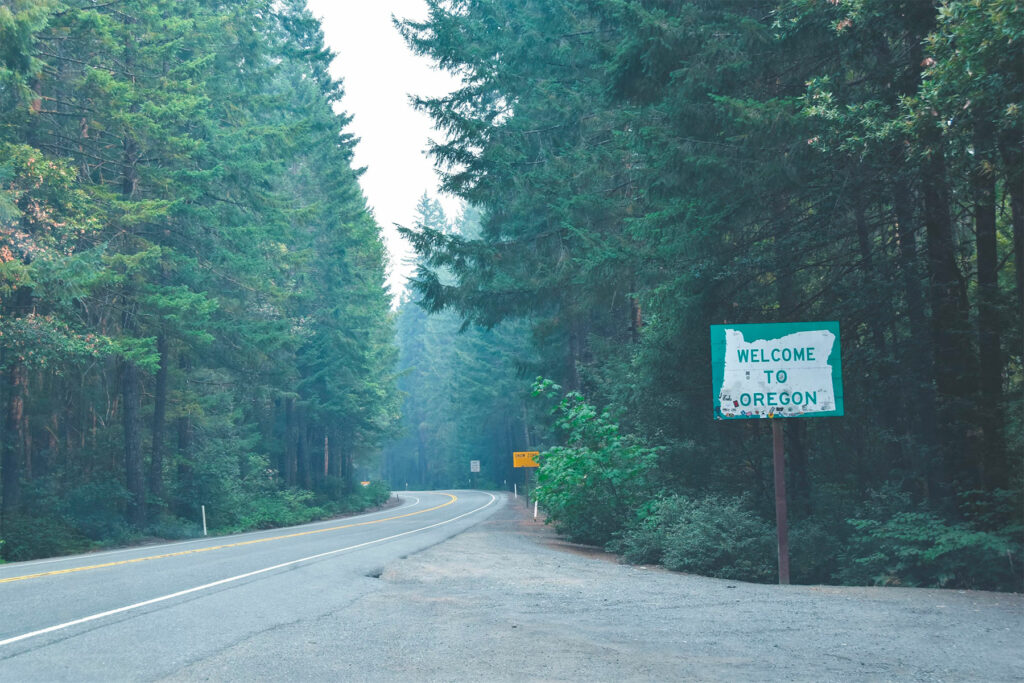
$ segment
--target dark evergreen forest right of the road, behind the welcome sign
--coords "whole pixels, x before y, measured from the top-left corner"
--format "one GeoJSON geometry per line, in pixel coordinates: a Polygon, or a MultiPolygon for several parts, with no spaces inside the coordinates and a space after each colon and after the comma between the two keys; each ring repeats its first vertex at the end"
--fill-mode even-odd
{"type": "Polygon", "coordinates": [[[507,434],[492,483],[538,447],[570,539],[773,581],[770,421],[713,419],[709,326],[838,321],[845,415],[785,420],[794,581],[1024,588],[1020,3],[428,4],[397,26],[461,79],[417,105],[479,215],[404,230],[450,317],[400,308],[401,353],[455,347],[399,381],[508,404],[409,449],[507,434]]]}

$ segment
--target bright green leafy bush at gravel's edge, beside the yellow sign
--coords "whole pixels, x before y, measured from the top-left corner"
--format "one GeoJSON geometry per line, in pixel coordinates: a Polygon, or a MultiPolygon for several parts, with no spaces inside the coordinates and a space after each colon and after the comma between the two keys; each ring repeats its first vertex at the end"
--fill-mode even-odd
{"type": "MultiPolygon", "coordinates": [[[[559,389],[539,379],[534,393],[559,389]]],[[[604,545],[649,496],[657,450],[620,434],[606,413],[599,414],[577,392],[555,411],[555,424],[566,433],[567,443],[541,455],[537,499],[560,533],[604,545]]]]}

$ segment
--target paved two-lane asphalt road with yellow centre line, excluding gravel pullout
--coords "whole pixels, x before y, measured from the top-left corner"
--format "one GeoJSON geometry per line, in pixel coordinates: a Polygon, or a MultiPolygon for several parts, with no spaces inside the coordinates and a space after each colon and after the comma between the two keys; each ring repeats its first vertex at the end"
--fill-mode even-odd
{"type": "Polygon", "coordinates": [[[397,507],[357,517],[0,565],[0,681],[172,676],[344,608],[389,563],[504,504],[482,492],[406,492],[397,507]]]}

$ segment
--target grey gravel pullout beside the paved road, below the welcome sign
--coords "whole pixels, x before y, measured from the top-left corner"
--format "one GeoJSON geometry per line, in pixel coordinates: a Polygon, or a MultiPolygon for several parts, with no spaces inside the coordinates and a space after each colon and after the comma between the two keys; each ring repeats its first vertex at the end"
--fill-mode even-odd
{"type": "Polygon", "coordinates": [[[339,611],[196,663],[268,679],[1019,681],[1024,596],[765,586],[608,561],[509,501],[339,611]],[[325,642],[327,641],[327,642],[325,642]]]}

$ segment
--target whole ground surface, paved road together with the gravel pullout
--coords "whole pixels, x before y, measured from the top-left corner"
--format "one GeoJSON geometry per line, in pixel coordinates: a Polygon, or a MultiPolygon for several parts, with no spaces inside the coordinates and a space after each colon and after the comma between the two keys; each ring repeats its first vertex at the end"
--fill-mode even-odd
{"type": "Polygon", "coordinates": [[[402,498],[2,565],[0,683],[1024,680],[1018,594],[629,566],[564,543],[522,499],[402,498]]]}

